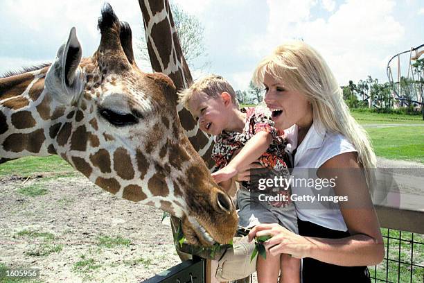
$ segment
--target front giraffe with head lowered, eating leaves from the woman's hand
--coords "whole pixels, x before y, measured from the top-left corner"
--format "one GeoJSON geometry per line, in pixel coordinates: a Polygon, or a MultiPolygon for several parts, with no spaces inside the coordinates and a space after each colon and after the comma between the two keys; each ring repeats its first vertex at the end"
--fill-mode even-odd
{"type": "Polygon", "coordinates": [[[91,57],[71,28],[51,65],[0,78],[0,162],[60,155],[106,191],[182,218],[190,243],[229,243],[233,203],[184,135],[172,80],[136,66],[109,4],[98,28],[91,57]]]}

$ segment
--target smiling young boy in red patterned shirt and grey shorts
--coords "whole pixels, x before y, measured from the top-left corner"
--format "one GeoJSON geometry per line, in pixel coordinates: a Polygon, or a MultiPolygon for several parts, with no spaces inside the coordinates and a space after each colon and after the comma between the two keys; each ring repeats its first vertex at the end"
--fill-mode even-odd
{"type": "MultiPolygon", "coordinates": [[[[200,129],[217,136],[212,157],[214,170],[219,170],[212,175],[224,189],[228,190],[233,177],[256,160],[288,177],[285,162],[289,162],[289,158],[285,153],[285,139],[281,137],[283,133],[274,128],[273,121],[264,110],[240,110],[236,94],[227,80],[209,75],[184,89],[179,96],[198,121],[200,129]]],[[[242,182],[237,192],[240,226],[251,228],[259,223],[279,223],[292,232],[298,232],[294,204],[257,201],[253,206],[250,187],[250,182],[242,182]]],[[[282,194],[288,194],[288,190],[282,194]]],[[[258,257],[257,260],[258,282],[277,282],[280,269],[280,282],[300,281],[300,259],[290,255],[273,257],[267,253],[267,259],[258,257]]]]}

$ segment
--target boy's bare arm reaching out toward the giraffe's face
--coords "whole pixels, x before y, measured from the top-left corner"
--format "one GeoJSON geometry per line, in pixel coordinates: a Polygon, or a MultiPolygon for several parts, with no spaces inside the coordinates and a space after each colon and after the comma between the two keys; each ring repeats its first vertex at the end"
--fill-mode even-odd
{"type": "Polygon", "coordinates": [[[215,182],[229,180],[238,173],[240,169],[256,161],[270,147],[272,135],[266,131],[257,132],[243,148],[223,169],[212,174],[215,182]]]}

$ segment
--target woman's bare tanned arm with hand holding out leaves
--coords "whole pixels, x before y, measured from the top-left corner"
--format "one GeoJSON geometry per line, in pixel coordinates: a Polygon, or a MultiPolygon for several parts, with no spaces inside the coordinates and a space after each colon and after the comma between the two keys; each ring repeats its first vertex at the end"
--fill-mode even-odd
{"type": "Polygon", "coordinates": [[[344,222],[351,233],[342,239],[303,237],[276,224],[258,225],[249,233],[249,239],[270,234],[273,237],[265,242],[265,248],[272,255],[287,253],[294,257],[312,257],[319,261],[340,266],[366,266],[379,264],[385,254],[380,224],[371,203],[369,190],[363,175],[356,173],[359,166],[355,153],[337,155],[319,170],[321,178],[334,178],[336,196],[347,196],[348,203],[340,202],[344,222]],[[339,170],[341,169],[341,170],[339,170]],[[362,176],[362,177],[361,177],[362,176]]]}

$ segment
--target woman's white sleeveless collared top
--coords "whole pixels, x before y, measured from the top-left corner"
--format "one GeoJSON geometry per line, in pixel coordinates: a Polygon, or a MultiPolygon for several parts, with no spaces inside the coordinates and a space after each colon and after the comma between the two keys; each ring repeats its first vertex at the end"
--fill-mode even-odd
{"type": "MultiPolygon", "coordinates": [[[[293,126],[289,129],[289,136],[294,137],[297,144],[297,128],[293,126]]],[[[293,138],[292,138],[293,139],[293,138]]],[[[290,140],[290,138],[289,138],[290,140]]],[[[348,152],[355,152],[353,144],[351,144],[343,135],[326,132],[323,126],[314,122],[306,137],[297,148],[297,153],[294,156],[294,169],[292,175],[294,178],[318,178],[317,169],[327,160],[336,155],[348,152]],[[306,170],[310,169],[310,170],[306,170]],[[306,174],[308,176],[306,176],[306,174]]],[[[312,191],[314,187],[302,187],[303,184],[292,185],[292,194],[298,196],[310,195],[316,196],[317,191],[312,191]],[[314,194],[315,193],[315,194],[314,194]]],[[[333,203],[335,209],[315,209],[319,208],[317,200],[314,203],[314,209],[311,209],[310,203],[295,202],[297,216],[303,221],[309,221],[325,228],[346,231],[346,223],[337,203],[333,203]]],[[[327,206],[328,207],[328,206],[327,206]]]]}

